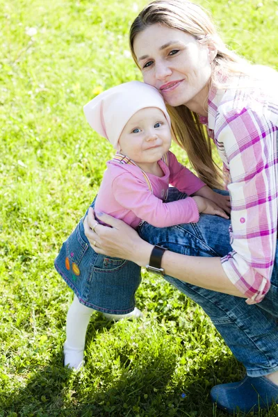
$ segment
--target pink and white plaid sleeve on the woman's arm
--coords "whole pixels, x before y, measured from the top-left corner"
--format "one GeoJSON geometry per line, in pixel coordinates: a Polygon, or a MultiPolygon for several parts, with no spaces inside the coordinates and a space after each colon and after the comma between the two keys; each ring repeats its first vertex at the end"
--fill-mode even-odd
{"type": "Polygon", "coordinates": [[[247,297],[263,300],[270,288],[277,243],[277,126],[262,111],[219,113],[215,139],[229,164],[230,238],[222,258],[227,277],[247,297]]]}

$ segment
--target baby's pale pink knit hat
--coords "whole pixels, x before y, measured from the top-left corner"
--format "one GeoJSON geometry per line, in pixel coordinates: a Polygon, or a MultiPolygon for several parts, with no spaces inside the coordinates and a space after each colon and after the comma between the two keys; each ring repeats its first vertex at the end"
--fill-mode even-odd
{"type": "Polygon", "coordinates": [[[119,138],[124,126],[138,110],[157,107],[163,111],[169,126],[170,117],[160,92],[151,85],[130,81],[110,88],[89,101],[84,113],[92,129],[120,150],[119,138]]]}

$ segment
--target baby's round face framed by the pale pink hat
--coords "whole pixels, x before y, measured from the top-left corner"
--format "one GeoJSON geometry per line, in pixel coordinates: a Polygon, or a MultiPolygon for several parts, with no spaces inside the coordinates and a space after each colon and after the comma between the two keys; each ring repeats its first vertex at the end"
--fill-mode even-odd
{"type": "Polygon", "coordinates": [[[159,108],[136,112],[126,123],[119,139],[121,153],[136,163],[159,161],[171,145],[170,126],[159,108]]]}

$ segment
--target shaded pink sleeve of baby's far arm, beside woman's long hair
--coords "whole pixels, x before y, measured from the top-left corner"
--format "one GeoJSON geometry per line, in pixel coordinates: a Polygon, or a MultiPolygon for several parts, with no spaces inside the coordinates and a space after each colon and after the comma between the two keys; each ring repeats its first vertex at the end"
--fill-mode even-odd
{"type": "Polygon", "coordinates": [[[170,170],[169,182],[181,191],[181,193],[192,195],[206,185],[193,172],[179,163],[177,157],[170,151],[168,152],[168,158],[170,170]]]}

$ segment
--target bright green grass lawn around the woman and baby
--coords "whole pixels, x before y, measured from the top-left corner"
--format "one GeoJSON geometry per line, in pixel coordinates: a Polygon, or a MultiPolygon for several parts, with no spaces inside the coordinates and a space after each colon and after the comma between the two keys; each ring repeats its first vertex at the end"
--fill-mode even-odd
{"type": "MultiPolygon", "coordinates": [[[[0,0],[1,417],[221,417],[211,386],[243,375],[202,309],[147,274],[144,318],[111,324],[96,313],[85,368],[62,365],[72,293],[54,258],[113,154],[82,108],[95,88],[141,79],[128,31],[144,3],[0,0]]],[[[277,0],[202,4],[231,47],[277,65],[277,0]]]]}

